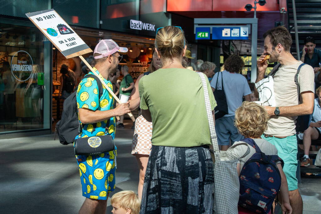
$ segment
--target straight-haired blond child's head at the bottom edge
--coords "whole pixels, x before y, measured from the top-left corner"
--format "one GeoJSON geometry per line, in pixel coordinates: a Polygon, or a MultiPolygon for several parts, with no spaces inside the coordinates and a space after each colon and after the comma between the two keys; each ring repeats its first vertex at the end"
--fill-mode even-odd
{"type": "Polygon", "coordinates": [[[114,214],[138,214],[141,200],[133,191],[120,191],[115,193],[110,203],[113,206],[111,211],[114,214]]]}

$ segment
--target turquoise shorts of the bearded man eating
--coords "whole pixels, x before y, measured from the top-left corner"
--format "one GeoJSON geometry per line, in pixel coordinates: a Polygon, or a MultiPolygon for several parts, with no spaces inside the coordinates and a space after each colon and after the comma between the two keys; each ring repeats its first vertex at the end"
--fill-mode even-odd
{"type": "Polygon", "coordinates": [[[278,155],[284,161],[283,171],[288,181],[289,191],[298,189],[298,179],[296,178],[298,160],[298,142],[297,136],[292,135],[285,138],[261,136],[273,144],[278,150],[278,155]]]}

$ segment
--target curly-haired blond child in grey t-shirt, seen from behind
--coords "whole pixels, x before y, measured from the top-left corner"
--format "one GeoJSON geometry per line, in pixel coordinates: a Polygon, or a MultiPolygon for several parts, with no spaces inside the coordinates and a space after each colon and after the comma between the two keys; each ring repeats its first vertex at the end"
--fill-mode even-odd
{"type": "MultiPolygon", "coordinates": [[[[277,155],[277,150],[274,145],[270,144],[268,141],[261,138],[261,135],[267,128],[267,121],[269,116],[265,108],[261,105],[258,105],[253,102],[245,101],[242,105],[235,111],[235,126],[239,130],[240,134],[245,138],[252,138],[260,150],[266,155],[277,155]]],[[[244,143],[242,141],[235,142],[235,144],[244,143]]],[[[256,152],[252,146],[249,146],[250,153],[244,158],[239,159],[237,164],[237,171],[240,174],[241,169],[243,168],[244,163],[252,157],[256,152]]],[[[233,153],[241,156],[245,153],[247,147],[240,145],[233,149],[233,153]]],[[[282,211],[286,213],[291,213],[292,208],[289,201],[289,190],[288,184],[283,172],[281,163],[276,163],[280,174],[281,174],[281,196],[282,196],[282,211]]],[[[239,207],[240,213],[252,213],[246,212],[243,208],[239,207]]]]}

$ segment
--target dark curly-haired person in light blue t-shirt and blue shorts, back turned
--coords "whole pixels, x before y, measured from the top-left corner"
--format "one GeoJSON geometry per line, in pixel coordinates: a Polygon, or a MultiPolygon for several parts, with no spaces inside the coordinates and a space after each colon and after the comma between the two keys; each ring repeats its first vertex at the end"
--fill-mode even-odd
{"type": "Polygon", "coordinates": [[[251,101],[250,94],[252,93],[248,86],[246,78],[240,74],[244,62],[239,55],[230,55],[224,62],[222,72],[217,72],[211,81],[213,92],[216,87],[222,89],[222,81],[224,94],[228,106],[228,114],[219,119],[215,119],[215,130],[217,134],[218,144],[221,145],[221,150],[226,151],[229,148],[230,141],[239,141],[244,137],[239,134],[234,126],[235,110],[243,102],[243,96],[246,101],[251,101]]]}

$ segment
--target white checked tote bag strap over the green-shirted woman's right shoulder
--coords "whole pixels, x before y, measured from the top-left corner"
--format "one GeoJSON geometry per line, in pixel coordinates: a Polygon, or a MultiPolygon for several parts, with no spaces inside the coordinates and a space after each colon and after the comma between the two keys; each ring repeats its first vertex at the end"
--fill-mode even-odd
{"type": "MultiPolygon", "coordinates": [[[[210,135],[211,135],[211,142],[212,142],[213,150],[214,150],[214,152],[220,151],[219,145],[217,143],[217,135],[215,132],[215,124],[214,124],[212,110],[211,110],[210,98],[209,98],[208,91],[207,91],[206,81],[208,81],[208,80],[205,79],[205,77],[204,77],[205,75],[202,72],[199,72],[198,75],[200,75],[201,80],[202,80],[202,84],[203,84],[205,107],[206,107],[208,125],[210,128],[210,135]]],[[[217,153],[219,154],[220,152],[217,152],[217,153]]]]}

